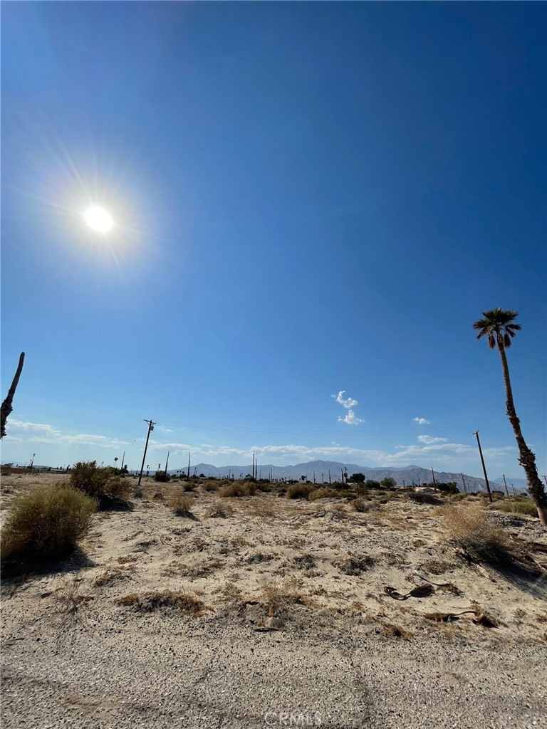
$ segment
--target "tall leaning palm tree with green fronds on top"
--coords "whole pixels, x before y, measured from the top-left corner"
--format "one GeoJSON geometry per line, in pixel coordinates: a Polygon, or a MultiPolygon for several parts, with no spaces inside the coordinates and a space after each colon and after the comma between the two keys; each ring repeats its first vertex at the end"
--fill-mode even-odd
{"type": "Polygon", "coordinates": [[[507,356],[505,350],[511,346],[511,339],[521,329],[520,324],[516,324],[515,319],[519,316],[518,311],[511,309],[492,309],[491,311],[483,311],[484,319],[479,319],[473,324],[473,329],[478,330],[477,339],[481,337],[488,338],[488,344],[491,349],[497,346],[502,361],[503,381],[505,383],[505,405],[507,406],[507,416],[513,427],[516,438],[516,445],[519,448],[519,463],[526,473],[528,482],[528,492],[538,509],[540,523],[547,526],[547,496],[543,483],[538,475],[538,467],[535,464],[535,455],[530,451],[522,436],[519,418],[516,416],[515,405],[513,402],[513,391],[511,389],[511,380],[509,378],[509,367],[507,364],[507,356]]]}

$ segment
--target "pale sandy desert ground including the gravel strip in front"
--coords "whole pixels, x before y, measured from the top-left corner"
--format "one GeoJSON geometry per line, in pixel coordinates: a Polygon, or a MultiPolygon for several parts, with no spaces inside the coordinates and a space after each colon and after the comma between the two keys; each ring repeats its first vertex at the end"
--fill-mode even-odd
{"type": "MultiPolygon", "coordinates": [[[[1,518],[52,480],[3,477],[1,518]]],[[[3,580],[4,728],[547,726],[546,572],[469,563],[408,499],[360,513],[200,487],[176,516],[179,488],[148,481],[62,568],[3,580]]],[[[491,515],[547,545],[538,520],[491,515]]]]}

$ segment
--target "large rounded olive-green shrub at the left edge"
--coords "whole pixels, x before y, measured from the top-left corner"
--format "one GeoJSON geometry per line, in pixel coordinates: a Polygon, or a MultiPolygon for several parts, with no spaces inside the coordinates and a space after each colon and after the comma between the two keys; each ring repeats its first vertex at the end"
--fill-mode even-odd
{"type": "Polygon", "coordinates": [[[3,558],[56,558],[87,533],[97,502],[70,486],[31,491],[12,503],[1,534],[3,558]]]}

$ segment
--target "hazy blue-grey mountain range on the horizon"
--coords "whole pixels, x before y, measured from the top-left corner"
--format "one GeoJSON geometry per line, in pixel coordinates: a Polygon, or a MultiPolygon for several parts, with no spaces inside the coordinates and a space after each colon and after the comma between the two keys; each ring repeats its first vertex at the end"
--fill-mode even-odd
{"type": "MultiPolygon", "coordinates": [[[[310,461],[309,463],[300,463],[295,466],[274,466],[272,464],[259,464],[258,465],[258,477],[272,478],[274,480],[282,479],[300,479],[302,476],[306,476],[306,479],[315,481],[315,483],[328,483],[329,472],[331,481],[339,481],[342,477],[342,472],[346,472],[348,477],[354,473],[362,473],[365,478],[370,478],[376,481],[381,481],[383,478],[391,477],[395,479],[397,486],[410,486],[415,484],[418,486],[421,483],[431,483],[431,469],[422,468],[419,466],[406,466],[397,468],[370,468],[368,466],[358,466],[357,464],[341,463],[339,461],[310,461]]],[[[185,469],[182,469],[184,472],[185,469]]],[[[225,477],[245,477],[247,474],[252,473],[252,465],[247,464],[245,466],[212,466],[206,463],[199,463],[190,467],[190,473],[196,473],[197,475],[203,473],[205,476],[215,476],[220,478],[225,477]]],[[[170,471],[174,473],[174,471],[170,471]]],[[[445,471],[434,471],[435,480],[448,483],[450,481],[457,483],[459,491],[463,491],[462,486],[462,475],[460,473],[450,473],[445,471]]],[[[486,482],[484,478],[478,478],[476,476],[465,475],[465,485],[470,488],[471,491],[486,491],[486,482]]],[[[517,486],[517,481],[522,479],[513,479],[511,483],[514,483],[517,491],[521,491],[522,487],[517,486]]],[[[508,482],[509,483],[509,482],[508,482]]],[[[526,483],[524,481],[524,483],[526,483]]],[[[497,482],[496,482],[497,484],[497,482]]],[[[503,480],[502,480],[503,485],[503,480]]]]}

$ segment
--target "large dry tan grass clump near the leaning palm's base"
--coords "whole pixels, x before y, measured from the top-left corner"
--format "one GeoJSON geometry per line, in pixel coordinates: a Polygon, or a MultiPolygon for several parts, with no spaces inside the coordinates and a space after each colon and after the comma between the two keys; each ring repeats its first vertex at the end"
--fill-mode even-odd
{"type": "Polygon", "coordinates": [[[518,557],[508,535],[476,505],[450,504],[441,510],[449,537],[471,556],[489,564],[503,564],[518,557]]]}

